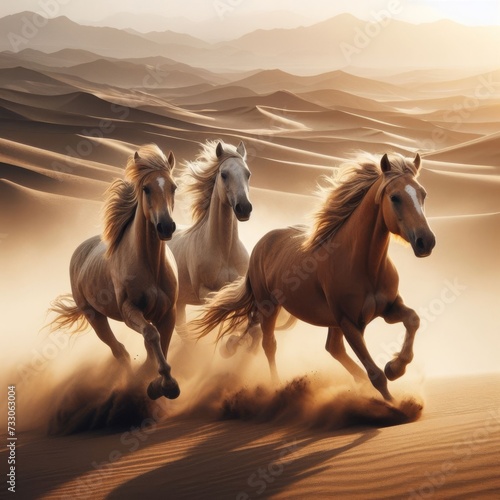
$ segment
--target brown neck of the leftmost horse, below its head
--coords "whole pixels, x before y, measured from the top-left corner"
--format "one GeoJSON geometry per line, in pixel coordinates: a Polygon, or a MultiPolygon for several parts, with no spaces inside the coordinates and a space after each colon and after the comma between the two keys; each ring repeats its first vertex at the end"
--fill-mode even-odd
{"type": "Polygon", "coordinates": [[[141,263],[159,273],[165,263],[165,243],[158,238],[153,224],[144,217],[142,202],[139,201],[132,221],[130,236],[141,263]]]}

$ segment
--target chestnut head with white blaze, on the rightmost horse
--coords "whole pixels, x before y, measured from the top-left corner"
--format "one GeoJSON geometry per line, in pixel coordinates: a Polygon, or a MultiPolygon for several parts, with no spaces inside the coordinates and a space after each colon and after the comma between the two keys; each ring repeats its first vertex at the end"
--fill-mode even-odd
{"type": "Polygon", "coordinates": [[[380,203],[385,224],[389,231],[410,243],[417,257],[427,257],[436,244],[424,213],[426,192],[417,182],[420,156],[413,162],[397,158],[394,168],[387,154],[382,157],[380,167],[383,173],[383,191],[380,203]],[[401,162],[405,165],[401,168],[401,162]]]}

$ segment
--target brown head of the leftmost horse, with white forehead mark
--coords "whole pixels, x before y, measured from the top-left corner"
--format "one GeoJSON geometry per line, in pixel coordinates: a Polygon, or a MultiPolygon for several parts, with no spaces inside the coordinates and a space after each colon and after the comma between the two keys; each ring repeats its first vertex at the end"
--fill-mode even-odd
{"type": "MultiPolygon", "coordinates": [[[[139,163],[143,160],[138,152],[134,160],[139,163]]],[[[174,210],[174,194],[177,185],[172,177],[175,167],[175,158],[172,152],[165,159],[165,168],[151,170],[144,176],[142,188],[142,209],[144,217],[156,229],[160,240],[170,240],[175,231],[175,222],[172,218],[174,210]]]]}

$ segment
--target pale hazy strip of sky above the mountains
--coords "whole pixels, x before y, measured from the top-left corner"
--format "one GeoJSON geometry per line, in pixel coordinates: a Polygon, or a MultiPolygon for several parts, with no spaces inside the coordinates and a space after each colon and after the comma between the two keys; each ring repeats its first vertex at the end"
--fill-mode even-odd
{"type": "MultiPolygon", "coordinates": [[[[76,21],[99,21],[117,12],[155,13],[166,17],[185,17],[203,21],[236,14],[288,11],[311,22],[342,12],[362,19],[393,8],[394,17],[410,22],[447,18],[462,24],[500,24],[499,0],[16,0],[2,1],[0,16],[31,10],[55,12],[76,21]]],[[[48,17],[54,17],[48,16],[48,17]]]]}

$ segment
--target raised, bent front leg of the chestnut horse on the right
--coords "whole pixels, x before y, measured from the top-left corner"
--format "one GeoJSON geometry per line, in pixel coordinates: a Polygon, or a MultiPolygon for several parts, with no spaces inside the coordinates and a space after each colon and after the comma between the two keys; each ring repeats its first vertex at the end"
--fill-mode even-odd
{"type": "Polygon", "coordinates": [[[420,318],[413,309],[405,306],[400,295],[397,296],[390,309],[382,317],[389,324],[402,322],[406,328],[401,351],[385,365],[384,369],[387,378],[395,380],[404,375],[406,366],[413,359],[413,342],[420,326],[420,318]]]}

